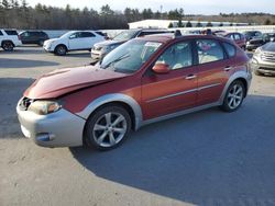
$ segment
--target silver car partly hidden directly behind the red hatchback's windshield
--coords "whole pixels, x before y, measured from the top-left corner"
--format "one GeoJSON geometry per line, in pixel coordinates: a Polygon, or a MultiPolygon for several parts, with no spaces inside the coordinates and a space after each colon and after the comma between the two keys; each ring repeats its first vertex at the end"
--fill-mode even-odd
{"type": "Polygon", "coordinates": [[[163,34],[163,33],[172,33],[172,31],[168,31],[168,30],[142,30],[142,28],[141,30],[123,31],[112,39],[95,44],[95,46],[91,48],[91,52],[90,52],[92,62],[95,64],[95,62],[99,61],[108,53],[110,53],[116,47],[118,47],[119,45],[125,43],[127,41],[129,41],[131,38],[135,38],[139,36],[153,35],[153,34],[163,34]]]}

